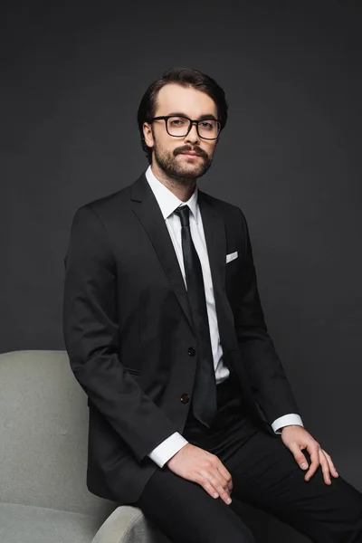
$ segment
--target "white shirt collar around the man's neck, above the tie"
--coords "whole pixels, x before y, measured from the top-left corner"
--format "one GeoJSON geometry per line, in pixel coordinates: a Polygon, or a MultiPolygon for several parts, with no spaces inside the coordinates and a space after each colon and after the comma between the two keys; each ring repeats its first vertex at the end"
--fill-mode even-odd
{"type": "Polygon", "coordinates": [[[167,188],[167,186],[163,185],[163,183],[158,181],[157,177],[152,171],[151,165],[148,166],[145,175],[148,180],[148,184],[157,199],[157,203],[161,209],[161,213],[164,219],[167,219],[170,214],[173,214],[179,205],[188,205],[191,213],[195,217],[196,224],[198,224],[199,209],[197,205],[197,186],[195,186],[195,191],[187,200],[187,202],[183,202],[182,200],[177,198],[177,196],[174,195],[174,193],[172,193],[169,188],[167,188]]]}

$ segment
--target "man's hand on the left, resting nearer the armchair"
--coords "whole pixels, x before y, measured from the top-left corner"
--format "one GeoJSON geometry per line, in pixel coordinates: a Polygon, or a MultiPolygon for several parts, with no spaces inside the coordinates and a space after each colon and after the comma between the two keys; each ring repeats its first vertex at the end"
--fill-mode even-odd
{"type": "Polygon", "coordinates": [[[176,475],[200,484],[213,498],[220,496],[227,505],[232,502],[232,476],[211,452],[187,443],[168,460],[167,466],[176,475]]]}

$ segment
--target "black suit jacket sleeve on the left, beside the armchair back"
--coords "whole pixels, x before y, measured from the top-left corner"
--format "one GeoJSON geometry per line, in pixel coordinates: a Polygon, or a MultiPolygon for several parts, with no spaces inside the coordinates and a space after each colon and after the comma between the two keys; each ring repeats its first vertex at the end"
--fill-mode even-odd
{"type": "Polygon", "coordinates": [[[108,233],[88,205],[74,214],[64,265],[62,323],[71,369],[140,462],[177,430],[119,359],[122,308],[117,307],[114,257],[108,233]]]}

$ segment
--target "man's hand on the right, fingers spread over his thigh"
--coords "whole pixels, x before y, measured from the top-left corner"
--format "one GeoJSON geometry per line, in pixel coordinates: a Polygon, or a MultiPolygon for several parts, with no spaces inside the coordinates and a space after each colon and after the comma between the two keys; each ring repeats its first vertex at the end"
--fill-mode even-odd
{"type": "Polygon", "coordinates": [[[317,471],[319,464],[326,484],[331,484],[330,474],[332,474],[335,478],[338,477],[338,472],[336,471],[329,454],[320,448],[319,443],[310,435],[309,432],[307,432],[303,426],[299,426],[297,424],[284,426],[281,430],[281,440],[292,452],[295,461],[302,470],[308,469],[308,462],[301,451],[303,449],[307,449],[307,451],[310,453],[310,469],[305,474],[305,481],[310,481],[310,477],[317,471]]]}

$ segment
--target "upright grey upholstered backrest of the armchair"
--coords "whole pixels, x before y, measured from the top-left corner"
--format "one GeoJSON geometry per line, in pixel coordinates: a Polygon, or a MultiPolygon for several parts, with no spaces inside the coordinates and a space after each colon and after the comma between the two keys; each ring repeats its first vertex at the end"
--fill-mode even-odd
{"type": "Polygon", "coordinates": [[[66,351],[0,354],[0,501],[107,516],[86,487],[87,396],[66,351]]]}

